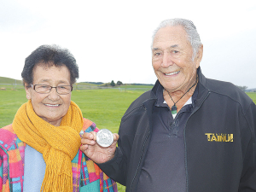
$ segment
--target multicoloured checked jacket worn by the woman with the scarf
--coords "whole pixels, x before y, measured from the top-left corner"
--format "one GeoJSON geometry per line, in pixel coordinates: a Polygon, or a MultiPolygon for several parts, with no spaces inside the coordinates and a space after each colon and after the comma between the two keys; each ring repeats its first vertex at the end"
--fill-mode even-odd
{"type": "MultiPolygon", "coordinates": [[[[98,131],[84,119],[83,131],[98,131]]],[[[0,129],[0,192],[22,192],[26,143],[20,141],[12,125],[0,129]]],[[[72,160],[73,192],[117,192],[116,183],[80,150],[72,160]]]]}

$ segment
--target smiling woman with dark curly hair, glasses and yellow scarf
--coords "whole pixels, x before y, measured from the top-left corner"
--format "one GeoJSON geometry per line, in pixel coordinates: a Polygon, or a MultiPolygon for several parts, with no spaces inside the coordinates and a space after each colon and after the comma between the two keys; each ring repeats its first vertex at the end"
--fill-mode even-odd
{"type": "Polygon", "coordinates": [[[28,102],[0,129],[0,191],[117,191],[79,150],[80,135],[98,131],[71,101],[79,67],[67,49],[43,45],[21,73],[28,102]]]}

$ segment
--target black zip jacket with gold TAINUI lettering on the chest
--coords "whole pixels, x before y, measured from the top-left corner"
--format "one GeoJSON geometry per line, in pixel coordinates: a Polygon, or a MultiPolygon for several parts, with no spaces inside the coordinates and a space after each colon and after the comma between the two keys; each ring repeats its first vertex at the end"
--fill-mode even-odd
{"type": "MultiPolygon", "coordinates": [[[[256,106],[235,85],[206,79],[200,68],[198,74],[199,93],[184,128],[187,191],[256,191],[256,106]]],[[[113,160],[99,165],[126,191],[137,191],[158,84],[131,103],[113,160]]]]}

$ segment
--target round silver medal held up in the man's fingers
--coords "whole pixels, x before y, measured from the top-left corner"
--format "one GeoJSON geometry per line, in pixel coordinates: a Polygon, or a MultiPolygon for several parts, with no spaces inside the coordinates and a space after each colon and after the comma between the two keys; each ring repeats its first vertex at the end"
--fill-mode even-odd
{"type": "Polygon", "coordinates": [[[96,133],[96,142],[103,148],[108,148],[113,143],[113,134],[107,129],[102,129],[96,133]]]}

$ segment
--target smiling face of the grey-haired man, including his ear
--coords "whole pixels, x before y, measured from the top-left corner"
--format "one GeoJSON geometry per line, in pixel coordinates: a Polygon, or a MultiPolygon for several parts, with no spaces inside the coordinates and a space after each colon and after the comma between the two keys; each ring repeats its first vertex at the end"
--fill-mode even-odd
{"type": "Polygon", "coordinates": [[[186,92],[195,83],[202,46],[193,61],[193,49],[182,26],[166,26],[156,32],[152,46],[154,73],[171,92],[186,92]]]}

